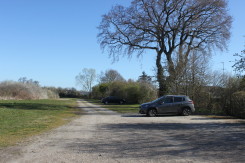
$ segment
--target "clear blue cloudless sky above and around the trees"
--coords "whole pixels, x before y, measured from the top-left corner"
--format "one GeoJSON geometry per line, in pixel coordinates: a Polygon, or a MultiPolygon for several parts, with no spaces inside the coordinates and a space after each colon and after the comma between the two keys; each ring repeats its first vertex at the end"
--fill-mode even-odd
{"type": "MultiPolygon", "coordinates": [[[[97,73],[117,70],[125,79],[137,79],[142,71],[153,75],[155,55],[121,58],[113,63],[97,42],[101,16],[112,5],[131,0],[0,0],[0,81],[27,77],[42,86],[76,87],[75,76],[83,68],[97,73]]],[[[230,0],[234,22],[226,52],[215,52],[214,70],[232,72],[234,53],[245,45],[245,0],[230,0]]]]}

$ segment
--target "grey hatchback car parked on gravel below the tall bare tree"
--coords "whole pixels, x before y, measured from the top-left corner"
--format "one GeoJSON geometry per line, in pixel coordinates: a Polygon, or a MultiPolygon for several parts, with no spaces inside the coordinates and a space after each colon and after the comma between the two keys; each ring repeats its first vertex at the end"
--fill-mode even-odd
{"type": "Polygon", "coordinates": [[[159,114],[188,116],[195,111],[193,101],[184,95],[166,95],[140,105],[139,113],[154,117],[159,114]]]}

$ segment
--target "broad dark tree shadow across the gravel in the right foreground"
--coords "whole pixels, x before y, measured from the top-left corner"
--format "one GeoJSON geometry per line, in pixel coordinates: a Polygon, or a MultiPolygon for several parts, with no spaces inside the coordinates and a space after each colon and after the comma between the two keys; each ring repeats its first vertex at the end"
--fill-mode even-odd
{"type": "Polygon", "coordinates": [[[101,124],[91,139],[77,139],[66,147],[114,158],[243,162],[244,140],[245,125],[241,123],[120,123],[101,124]]]}

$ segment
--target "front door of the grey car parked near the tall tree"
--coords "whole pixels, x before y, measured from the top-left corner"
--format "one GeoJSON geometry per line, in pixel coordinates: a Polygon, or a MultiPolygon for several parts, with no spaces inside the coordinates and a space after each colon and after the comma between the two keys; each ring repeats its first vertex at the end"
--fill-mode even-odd
{"type": "Polygon", "coordinates": [[[164,101],[157,107],[160,114],[172,112],[173,96],[167,96],[164,101]]]}

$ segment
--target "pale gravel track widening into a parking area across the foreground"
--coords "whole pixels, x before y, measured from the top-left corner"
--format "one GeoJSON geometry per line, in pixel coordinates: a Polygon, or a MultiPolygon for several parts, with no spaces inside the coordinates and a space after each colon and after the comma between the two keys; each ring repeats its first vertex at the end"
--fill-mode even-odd
{"type": "Polygon", "coordinates": [[[0,150],[3,163],[245,162],[245,121],[117,114],[80,100],[85,115],[0,150]]]}

